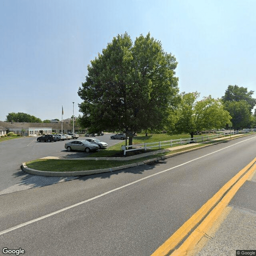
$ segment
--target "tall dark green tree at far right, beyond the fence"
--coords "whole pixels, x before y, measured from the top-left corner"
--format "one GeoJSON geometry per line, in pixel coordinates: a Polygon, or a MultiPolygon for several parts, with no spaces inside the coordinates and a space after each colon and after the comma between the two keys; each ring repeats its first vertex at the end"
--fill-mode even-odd
{"type": "Polygon", "coordinates": [[[232,116],[231,122],[235,130],[249,127],[252,124],[252,109],[256,99],[252,98],[254,91],[248,92],[247,88],[229,85],[222,100],[225,109],[232,116]]]}

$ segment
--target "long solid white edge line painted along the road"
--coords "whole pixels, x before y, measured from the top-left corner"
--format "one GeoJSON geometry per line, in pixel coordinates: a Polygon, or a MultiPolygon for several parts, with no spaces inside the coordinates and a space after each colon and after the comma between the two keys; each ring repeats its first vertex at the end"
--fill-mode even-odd
{"type": "MultiPolygon", "coordinates": [[[[253,138],[256,138],[256,136],[255,136],[255,137],[252,137],[252,138],[249,138],[249,139],[247,139],[247,140],[251,140],[251,139],[253,139],[253,138]]],[[[161,171],[161,172],[157,172],[157,173],[155,173],[155,174],[151,174],[151,175],[149,175],[149,176],[146,176],[146,177],[144,177],[144,178],[141,178],[141,179],[139,179],[139,180],[136,180],[136,181],[134,181],[134,182],[131,182],[131,183],[129,183],[129,184],[126,184],[126,185],[124,185],[124,186],[121,186],[121,187],[115,188],[115,189],[113,189],[113,190],[107,191],[107,192],[105,192],[105,193],[103,193],[103,194],[100,194],[100,195],[98,195],[98,196],[94,196],[94,197],[92,197],[92,198],[90,198],[90,199],[87,199],[87,200],[84,200],[84,201],[82,201],[82,202],[80,202],[80,203],[73,204],[73,205],[68,206],[68,207],[66,207],[66,208],[60,209],[60,210],[58,210],[58,211],[56,211],[56,212],[52,212],[52,213],[50,213],[50,214],[44,215],[44,216],[39,217],[39,218],[36,218],[36,219],[34,219],[34,220],[30,220],[30,221],[28,221],[28,222],[24,222],[24,223],[22,223],[22,224],[20,224],[20,225],[17,225],[17,226],[12,227],[12,228],[8,228],[8,229],[6,229],[6,230],[1,231],[1,232],[0,232],[0,235],[6,234],[6,233],[11,232],[11,231],[13,231],[13,230],[16,230],[16,229],[18,229],[18,228],[27,226],[28,224],[37,222],[37,221],[39,221],[39,220],[43,220],[43,219],[45,219],[45,218],[48,218],[48,217],[53,216],[53,215],[55,215],[55,214],[58,214],[58,213],[60,213],[60,212],[64,212],[64,211],[66,211],[66,210],[68,210],[68,209],[74,208],[74,207],[79,206],[79,205],[81,205],[81,204],[85,204],[85,203],[87,203],[87,202],[90,202],[90,201],[92,201],[92,200],[95,200],[95,199],[97,199],[97,198],[100,198],[100,197],[102,197],[102,196],[105,196],[105,195],[107,195],[107,194],[110,194],[110,193],[112,193],[112,192],[114,192],[114,191],[116,191],[116,190],[120,190],[120,189],[122,189],[122,188],[128,187],[128,186],[130,186],[130,185],[132,185],[132,184],[135,184],[135,183],[140,182],[140,181],[142,181],[142,180],[146,180],[146,179],[148,179],[148,178],[151,178],[151,177],[156,176],[156,175],[158,175],[158,174],[161,174],[161,173],[163,173],[163,172],[167,172],[167,171],[172,170],[172,169],[174,169],[174,168],[183,166],[183,165],[185,165],[185,164],[189,164],[189,163],[194,162],[194,161],[196,161],[196,160],[198,160],[198,159],[201,159],[201,158],[204,158],[204,157],[209,156],[209,155],[211,155],[211,154],[220,152],[220,151],[222,151],[222,150],[224,150],[224,149],[226,149],[226,148],[230,148],[230,147],[232,147],[232,146],[235,146],[235,145],[240,144],[240,143],[242,143],[242,142],[245,142],[245,141],[247,141],[247,140],[243,140],[243,141],[237,142],[237,143],[235,143],[235,144],[233,144],[233,145],[230,145],[230,146],[227,146],[227,147],[225,147],[225,148],[216,150],[216,151],[211,152],[211,153],[209,153],[209,154],[206,154],[206,155],[204,155],[204,156],[200,156],[200,157],[198,157],[198,158],[194,158],[194,159],[192,159],[192,160],[190,160],[190,161],[188,161],[188,162],[185,162],[185,163],[183,163],[183,164],[179,164],[179,165],[177,165],[177,166],[168,168],[168,169],[163,170],[163,171],[161,171]]]]}

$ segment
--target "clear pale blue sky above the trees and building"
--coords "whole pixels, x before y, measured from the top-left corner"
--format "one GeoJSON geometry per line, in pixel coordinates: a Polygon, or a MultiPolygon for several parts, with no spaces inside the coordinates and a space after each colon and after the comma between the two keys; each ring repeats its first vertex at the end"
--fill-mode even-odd
{"type": "MultiPolygon", "coordinates": [[[[78,116],[87,65],[114,36],[150,32],[177,61],[180,92],[256,91],[254,0],[2,0],[0,120],[78,116]]],[[[256,98],[256,92],[253,95],[256,98]]]]}

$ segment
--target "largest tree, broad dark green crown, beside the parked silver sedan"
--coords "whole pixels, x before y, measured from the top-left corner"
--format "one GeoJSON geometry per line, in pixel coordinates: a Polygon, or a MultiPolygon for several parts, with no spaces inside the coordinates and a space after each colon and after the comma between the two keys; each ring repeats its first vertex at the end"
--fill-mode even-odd
{"type": "Polygon", "coordinates": [[[80,124],[91,131],[129,133],[164,126],[169,108],[178,103],[176,58],[159,41],[140,35],[134,44],[127,33],[114,37],[88,65],[78,90],[80,124]]]}

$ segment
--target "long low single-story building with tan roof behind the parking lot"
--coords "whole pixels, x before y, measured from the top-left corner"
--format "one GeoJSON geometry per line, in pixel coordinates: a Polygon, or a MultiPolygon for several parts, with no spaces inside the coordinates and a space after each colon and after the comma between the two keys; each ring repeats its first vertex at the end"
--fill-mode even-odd
{"type": "MultiPolygon", "coordinates": [[[[22,122],[3,122],[0,121],[0,126],[6,129],[6,132],[14,132],[26,136],[38,136],[42,134],[68,133],[73,131],[73,125],[70,123],[71,118],[62,120],[57,123],[22,123],[22,122]]],[[[78,132],[74,128],[74,132],[78,132]]]]}

